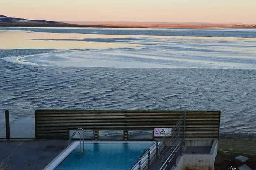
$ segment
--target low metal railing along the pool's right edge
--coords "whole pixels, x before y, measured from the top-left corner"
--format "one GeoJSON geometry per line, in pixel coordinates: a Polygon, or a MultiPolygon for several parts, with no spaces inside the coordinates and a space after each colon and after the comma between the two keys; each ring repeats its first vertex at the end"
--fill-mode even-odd
{"type": "Polygon", "coordinates": [[[131,170],[142,170],[144,169],[147,165],[148,168],[150,167],[150,157],[152,158],[154,155],[156,155],[156,157],[158,157],[159,155],[159,147],[160,142],[156,142],[151,148],[148,149],[147,152],[145,152],[142,157],[139,158],[139,160],[134,164],[134,166],[132,166],[131,170]],[[155,152],[156,151],[156,152],[155,152]],[[154,154],[153,156],[151,156],[152,154],[154,154]],[[147,155],[147,156],[146,156],[147,155]],[[143,167],[144,163],[148,161],[146,163],[146,165],[143,167]]]}

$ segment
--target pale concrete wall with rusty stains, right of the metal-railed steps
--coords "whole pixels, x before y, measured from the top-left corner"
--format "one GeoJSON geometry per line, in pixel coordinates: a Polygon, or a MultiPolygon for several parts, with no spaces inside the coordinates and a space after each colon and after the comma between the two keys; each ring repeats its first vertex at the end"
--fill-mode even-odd
{"type": "Polygon", "coordinates": [[[214,170],[214,162],[218,151],[218,141],[212,143],[209,154],[183,154],[172,170],[214,170]]]}

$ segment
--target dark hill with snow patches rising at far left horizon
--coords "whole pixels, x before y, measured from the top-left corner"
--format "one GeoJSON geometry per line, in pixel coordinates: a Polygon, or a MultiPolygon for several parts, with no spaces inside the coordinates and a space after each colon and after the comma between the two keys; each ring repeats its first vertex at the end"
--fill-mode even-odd
{"type": "Polygon", "coordinates": [[[27,24],[65,24],[56,21],[46,21],[46,20],[27,20],[23,18],[7,17],[0,15],[0,23],[27,23],[27,24]]]}

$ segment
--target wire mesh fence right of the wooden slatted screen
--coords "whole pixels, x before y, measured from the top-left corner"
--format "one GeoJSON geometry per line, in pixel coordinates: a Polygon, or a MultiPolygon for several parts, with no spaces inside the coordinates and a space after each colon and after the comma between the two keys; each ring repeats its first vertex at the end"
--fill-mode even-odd
{"type": "Polygon", "coordinates": [[[256,114],[221,117],[220,151],[256,155],[256,114]],[[253,121],[254,120],[254,121],[253,121]]]}

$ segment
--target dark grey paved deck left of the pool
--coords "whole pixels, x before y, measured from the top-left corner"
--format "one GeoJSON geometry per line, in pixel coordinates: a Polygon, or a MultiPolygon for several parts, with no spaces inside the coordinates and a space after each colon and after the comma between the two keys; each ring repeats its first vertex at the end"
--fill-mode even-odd
{"type": "Polygon", "coordinates": [[[64,150],[66,140],[0,142],[0,162],[11,155],[6,170],[42,170],[64,150]],[[13,153],[13,154],[12,154],[13,153]]]}

